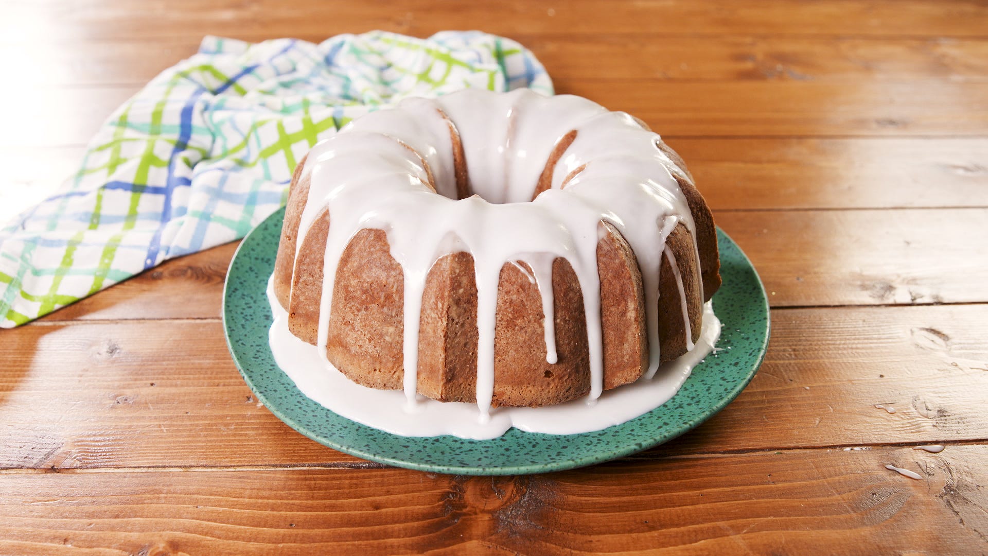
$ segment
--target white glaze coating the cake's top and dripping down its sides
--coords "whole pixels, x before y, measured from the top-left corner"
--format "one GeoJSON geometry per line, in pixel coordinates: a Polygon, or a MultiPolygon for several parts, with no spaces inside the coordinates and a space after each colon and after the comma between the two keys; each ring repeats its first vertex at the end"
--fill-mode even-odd
{"type": "Polygon", "coordinates": [[[583,295],[593,402],[603,393],[604,383],[597,243],[601,222],[608,222],[627,240],[641,270],[649,344],[645,376],[653,377],[660,362],[663,253],[682,300],[688,347],[694,347],[683,278],[665,242],[679,223],[694,237],[696,227],[673,177],[684,172],[658,148],[658,140],[627,114],[580,97],[543,97],[528,89],[505,94],[467,89],[436,100],[403,101],[397,109],[355,120],[316,144],[303,169],[311,182],[296,248],[328,208],[332,226],[326,241],[318,352],[325,359],[337,261],[355,233],[383,230],[404,273],[404,388],[408,406],[416,407],[426,276],[441,256],[469,252],[477,286],[476,401],[480,420],[486,420],[494,389],[501,268],[524,262],[532,269],[527,274],[535,278],[542,298],[546,361],[552,363],[552,261],[561,257],[572,266],[583,295]],[[451,122],[474,193],[459,201],[454,193],[451,122]],[[577,137],[552,169],[552,188],[531,200],[556,141],[572,130],[577,137]],[[563,180],[580,167],[584,169],[565,182],[564,192],[563,180]]]}

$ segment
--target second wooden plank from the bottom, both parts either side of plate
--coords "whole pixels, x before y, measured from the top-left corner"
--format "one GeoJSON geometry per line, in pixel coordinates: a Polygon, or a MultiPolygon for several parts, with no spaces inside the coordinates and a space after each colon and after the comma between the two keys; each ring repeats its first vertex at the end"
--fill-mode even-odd
{"type": "MultiPolygon", "coordinates": [[[[777,310],[772,318],[751,385],[698,430],[652,452],[988,438],[988,305],[777,310]]],[[[219,323],[3,333],[11,355],[0,376],[0,468],[359,461],[259,407],[219,323]]]]}

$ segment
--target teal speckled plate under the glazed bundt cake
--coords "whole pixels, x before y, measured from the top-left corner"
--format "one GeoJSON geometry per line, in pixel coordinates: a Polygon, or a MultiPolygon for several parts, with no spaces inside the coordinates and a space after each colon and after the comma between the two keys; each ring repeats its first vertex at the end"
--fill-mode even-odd
{"type": "Polygon", "coordinates": [[[466,475],[514,475],[592,465],[650,448],[696,427],[731,402],[755,376],[769,339],[769,304],[758,274],[737,244],[717,231],[724,284],[713,296],[723,323],[708,355],[662,407],[597,432],[554,435],[517,428],[493,440],[407,437],[340,417],[309,400],[275,363],[268,346],[265,296],[282,230],[282,209],[244,237],[223,292],[226,341],[258,400],[289,426],[341,452],[398,467],[466,475]]]}

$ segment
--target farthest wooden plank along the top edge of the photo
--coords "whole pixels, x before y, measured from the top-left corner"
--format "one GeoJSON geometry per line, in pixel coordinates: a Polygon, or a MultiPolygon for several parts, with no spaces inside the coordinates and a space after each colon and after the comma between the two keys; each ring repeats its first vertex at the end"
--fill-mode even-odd
{"type": "Polygon", "coordinates": [[[277,0],[243,4],[237,0],[176,0],[135,5],[125,0],[49,0],[8,8],[0,36],[14,38],[148,40],[175,35],[241,37],[261,33],[280,37],[332,36],[382,29],[425,37],[446,29],[484,30],[504,36],[601,33],[648,37],[718,36],[744,30],[753,35],[841,37],[985,37],[988,11],[977,2],[951,0],[646,0],[612,3],[445,2],[411,0],[396,9],[386,0],[277,0]]]}

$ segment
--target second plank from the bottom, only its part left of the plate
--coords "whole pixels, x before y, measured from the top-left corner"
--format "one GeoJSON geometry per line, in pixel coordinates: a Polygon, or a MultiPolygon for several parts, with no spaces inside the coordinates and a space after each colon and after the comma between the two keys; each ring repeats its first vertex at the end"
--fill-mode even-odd
{"type": "MultiPolygon", "coordinates": [[[[216,322],[22,326],[4,340],[0,468],[284,464],[280,437],[304,438],[254,400],[216,322]],[[239,445],[216,458],[222,437],[239,445]]],[[[309,462],[361,461],[300,447],[309,462]]]]}

